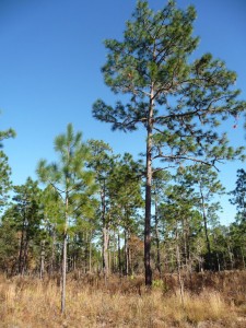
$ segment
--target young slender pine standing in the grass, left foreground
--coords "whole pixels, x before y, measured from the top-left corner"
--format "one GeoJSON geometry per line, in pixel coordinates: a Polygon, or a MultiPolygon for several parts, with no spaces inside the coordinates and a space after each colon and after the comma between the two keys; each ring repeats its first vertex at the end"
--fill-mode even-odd
{"type": "Polygon", "coordinates": [[[94,174],[85,169],[90,161],[90,149],[81,141],[82,133],[74,133],[71,124],[67,133],[55,139],[55,150],[59,154],[57,163],[47,164],[40,160],[37,174],[43,183],[54,187],[62,200],[62,284],[61,312],[66,309],[66,276],[67,276],[67,238],[69,233],[69,219],[74,218],[78,211],[92,211],[90,197],[95,191],[94,174]]]}

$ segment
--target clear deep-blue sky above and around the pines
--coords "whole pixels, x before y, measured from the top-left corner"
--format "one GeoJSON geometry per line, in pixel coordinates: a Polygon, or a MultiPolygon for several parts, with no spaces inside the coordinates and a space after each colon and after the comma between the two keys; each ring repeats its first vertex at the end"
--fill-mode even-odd
{"type": "MultiPolygon", "coordinates": [[[[161,9],[164,0],[150,0],[161,9]]],[[[84,140],[103,139],[116,153],[144,151],[141,133],[112,132],[93,119],[92,104],[102,97],[114,103],[104,85],[105,38],[120,38],[134,0],[0,0],[0,130],[12,127],[17,137],[4,142],[15,185],[35,176],[39,159],[55,159],[54,138],[68,122],[82,130],[84,140]]],[[[210,51],[238,74],[237,87],[246,99],[246,1],[177,0],[195,4],[200,36],[197,54],[210,51]]],[[[245,143],[244,118],[237,129],[224,126],[233,145],[245,143]]],[[[231,190],[243,163],[221,166],[221,178],[231,190]]],[[[235,209],[223,198],[223,223],[235,209]]]]}

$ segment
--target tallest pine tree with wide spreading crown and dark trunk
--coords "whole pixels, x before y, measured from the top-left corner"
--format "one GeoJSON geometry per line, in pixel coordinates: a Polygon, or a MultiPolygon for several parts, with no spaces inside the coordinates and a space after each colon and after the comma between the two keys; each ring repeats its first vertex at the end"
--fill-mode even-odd
{"type": "Polygon", "coordinates": [[[112,124],[113,130],[147,131],[145,151],[145,283],[152,284],[151,186],[152,161],[180,164],[196,161],[214,165],[232,159],[234,151],[225,134],[219,134],[221,120],[246,108],[237,101],[233,85],[236,73],[206,54],[195,61],[189,56],[198,46],[192,36],[196,10],[176,8],[174,1],[157,12],[148,1],[138,1],[127,22],[122,40],[107,39],[105,83],[124,101],[114,106],[97,99],[93,116],[112,124]],[[127,101],[127,96],[128,101],[127,101]]]}

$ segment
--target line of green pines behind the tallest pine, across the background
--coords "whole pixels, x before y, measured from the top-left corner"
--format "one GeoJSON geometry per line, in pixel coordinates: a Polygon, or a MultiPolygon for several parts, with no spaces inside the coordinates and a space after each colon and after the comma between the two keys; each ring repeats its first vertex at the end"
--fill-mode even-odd
{"type": "MultiPolygon", "coordinates": [[[[40,161],[39,180],[28,177],[21,186],[11,185],[1,151],[1,271],[40,277],[60,272],[66,224],[68,272],[143,273],[142,162],[129,153],[115,154],[104,141],[82,142],[72,125],[56,138],[55,148],[58,162],[40,161]]],[[[204,164],[173,174],[154,172],[151,261],[159,277],[178,268],[245,269],[244,169],[231,192],[238,213],[229,226],[219,219],[223,192],[218,173],[204,164]]]]}

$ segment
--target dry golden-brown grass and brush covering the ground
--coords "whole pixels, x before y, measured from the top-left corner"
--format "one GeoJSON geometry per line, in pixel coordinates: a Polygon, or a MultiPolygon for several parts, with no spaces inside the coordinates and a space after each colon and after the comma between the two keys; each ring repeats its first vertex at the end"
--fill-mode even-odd
{"type": "Polygon", "coordinates": [[[246,271],[184,276],[184,303],[177,277],[155,279],[70,274],[67,314],[60,315],[57,279],[0,278],[1,328],[58,327],[246,327],[246,271]]]}

